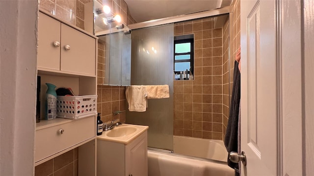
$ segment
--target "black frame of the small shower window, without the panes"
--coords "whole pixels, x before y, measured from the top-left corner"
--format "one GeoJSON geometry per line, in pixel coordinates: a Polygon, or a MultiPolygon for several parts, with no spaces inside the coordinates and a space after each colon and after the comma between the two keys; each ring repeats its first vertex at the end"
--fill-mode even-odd
{"type": "MultiPolygon", "coordinates": [[[[190,62],[190,71],[187,72],[189,74],[190,72],[193,74],[193,69],[194,69],[194,35],[189,34],[189,35],[183,35],[183,36],[175,36],[174,37],[174,51],[173,51],[173,70],[175,74],[180,74],[180,71],[175,71],[175,64],[176,63],[181,63],[181,62],[190,62]],[[185,52],[185,53],[176,53],[176,44],[184,44],[184,43],[190,43],[190,52],[185,52]],[[190,55],[190,59],[180,59],[176,60],[176,56],[180,55],[190,55]]],[[[182,70],[184,71],[184,70],[182,70]]]]}

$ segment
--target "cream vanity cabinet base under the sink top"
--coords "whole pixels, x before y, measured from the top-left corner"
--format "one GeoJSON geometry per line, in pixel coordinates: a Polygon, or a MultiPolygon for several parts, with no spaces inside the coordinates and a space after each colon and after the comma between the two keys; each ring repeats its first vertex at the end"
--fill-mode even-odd
{"type": "Polygon", "coordinates": [[[97,176],[147,175],[147,131],[129,144],[97,140],[97,176]]]}

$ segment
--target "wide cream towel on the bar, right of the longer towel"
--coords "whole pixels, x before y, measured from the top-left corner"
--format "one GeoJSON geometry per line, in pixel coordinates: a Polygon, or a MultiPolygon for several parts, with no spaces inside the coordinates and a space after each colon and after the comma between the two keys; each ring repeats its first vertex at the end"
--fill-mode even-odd
{"type": "Polygon", "coordinates": [[[169,86],[145,86],[147,92],[147,99],[169,98],[169,86]]]}

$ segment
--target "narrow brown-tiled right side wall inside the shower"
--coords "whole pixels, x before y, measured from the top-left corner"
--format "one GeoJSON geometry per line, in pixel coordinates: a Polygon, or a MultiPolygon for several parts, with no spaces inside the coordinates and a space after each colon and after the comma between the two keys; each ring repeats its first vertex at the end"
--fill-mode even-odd
{"type": "Polygon", "coordinates": [[[223,65],[222,65],[222,114],[223,114],[223,139],[225,138],[228,118],[229,118],[229,104],[230,104],[230,80],[229,80],[229,17],[226,20],[223,31],[223,65]]]}

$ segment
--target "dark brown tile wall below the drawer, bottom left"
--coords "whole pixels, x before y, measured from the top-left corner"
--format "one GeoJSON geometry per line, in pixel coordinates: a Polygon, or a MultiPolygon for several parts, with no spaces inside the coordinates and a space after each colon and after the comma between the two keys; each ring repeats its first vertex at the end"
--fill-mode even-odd
{"type": "Polygon", "coordinates": [[[78,176],[78,148],[36,166],[35,176],[78,176]]]}

